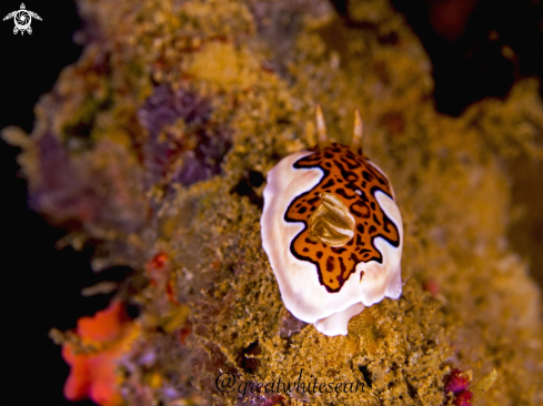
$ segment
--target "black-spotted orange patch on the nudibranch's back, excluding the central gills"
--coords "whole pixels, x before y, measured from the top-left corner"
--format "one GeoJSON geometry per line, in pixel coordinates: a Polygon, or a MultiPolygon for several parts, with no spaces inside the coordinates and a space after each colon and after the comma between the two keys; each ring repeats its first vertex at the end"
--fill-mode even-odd
{"type": "Polygon", "coordinates": [[[398,229],[374,196],[375,192],[381,191],[392,197],[392,191],[386,177],[363,155],[351,152],[349,146],[333,143],[323,150],[311,151],[314,153],[299,160],[294,168],[320,168],[324,176],[315,187],[290,204],[284,219],[305,224],[292,241],[292,254],[315,264],[321,284],[331,293],[339,292],[354,273],[356,264],[370,261],[382,263],[382,255],[373,243],[376,237],[399,246],[398,229]],[[321,193],[333,193],[341,199],[355,219],[354,237],[343,246],[331,247],[309,238],[308,220],[319,206],[321,193]]]}

